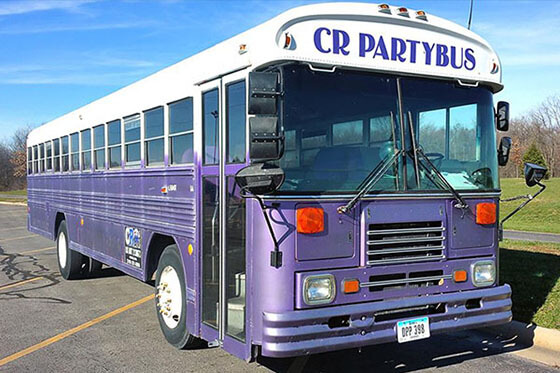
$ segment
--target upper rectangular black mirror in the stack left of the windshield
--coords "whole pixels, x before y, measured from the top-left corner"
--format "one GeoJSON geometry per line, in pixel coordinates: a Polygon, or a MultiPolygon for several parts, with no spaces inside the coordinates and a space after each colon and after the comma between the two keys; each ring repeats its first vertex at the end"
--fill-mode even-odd
{"type": "Polygon", "coordinates": [[[277,72],[249,73],[249,114],[278,113],[279,80],[277,72]]]}

